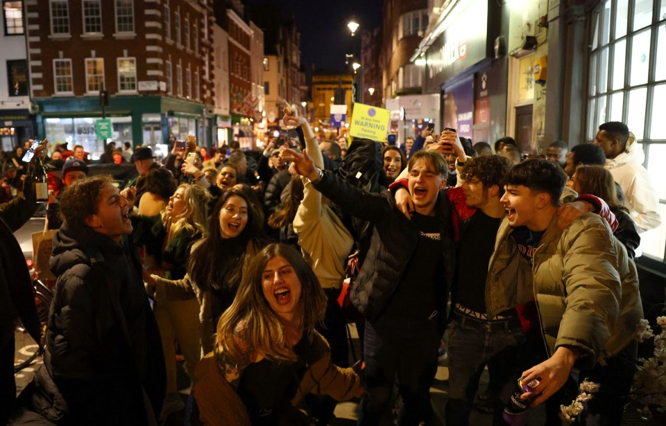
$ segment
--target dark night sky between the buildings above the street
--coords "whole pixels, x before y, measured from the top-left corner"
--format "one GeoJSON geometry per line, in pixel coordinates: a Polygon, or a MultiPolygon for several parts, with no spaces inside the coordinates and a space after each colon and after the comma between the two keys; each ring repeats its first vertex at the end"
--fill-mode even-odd
{"type": "MultiPolygon", "coordinates": [[[[382,25],[383,0],[273,0],[293,13],[300,32],[301,61],[309,74],[318,69],[345,69],[345,53],[354,46],[347,23],[355,20],[363,28],[382,25]]],[[[360,52],[360,39],[357,41],[360,52]]]]}

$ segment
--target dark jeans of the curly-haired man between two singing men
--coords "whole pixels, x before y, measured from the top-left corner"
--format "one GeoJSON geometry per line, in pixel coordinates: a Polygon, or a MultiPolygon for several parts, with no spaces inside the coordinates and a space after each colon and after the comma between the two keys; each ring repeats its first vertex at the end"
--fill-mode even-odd
{"type": "MultiPolygon", "coordinates": [[[[515,330],[480,330],[463,326],[453,319],[449,326],[447,352],[449,354],[449,398],[446,403],[447,426],[468,425],[470,411],[479,389],[479,378],[488,364],[492,371],[491,384],[497,389],[488,391],[498,417],[503,407],[497,398],[502,387],[513,380],[513,363],[525,337],[520,328],[515,330]]],[[[493,422],[497,424],[497,422],[493,422]]],[[[502,424],[502,423],[500,423],[502,424]]]]}

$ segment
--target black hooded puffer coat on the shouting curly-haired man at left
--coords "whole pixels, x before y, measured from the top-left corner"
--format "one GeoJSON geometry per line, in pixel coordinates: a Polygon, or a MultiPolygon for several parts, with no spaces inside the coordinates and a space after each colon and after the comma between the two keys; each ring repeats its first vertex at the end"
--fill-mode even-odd
{"type": "MultiPolygon", "coordinates": [[[[51,270],[58,281],[46,330],[49,375],[41,379],[55,382],[67,409],[55,413],[53,396],[35,396],[49,420],[147,425],[148,411],[159,416],[164,355],[140,267],[126,238],[119,243],[67,224],[53,238],[51,270]]],[[[37,389],[49,386],[38,382],[37,389]]]]}

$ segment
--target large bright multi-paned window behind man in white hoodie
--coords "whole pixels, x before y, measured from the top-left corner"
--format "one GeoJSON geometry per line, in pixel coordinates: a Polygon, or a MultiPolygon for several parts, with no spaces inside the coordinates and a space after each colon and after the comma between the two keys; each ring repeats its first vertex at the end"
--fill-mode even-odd
{"type": "Polygon", "coordinates": [[[663,224],[641,234],[644,256],[665,262],[666,0],[604,0],[592,14],[586,139],[622,121],[642,144],[644,166],[660,199],[663,224]],[[656,5],[659,8],[655,10],[656,5]]]}

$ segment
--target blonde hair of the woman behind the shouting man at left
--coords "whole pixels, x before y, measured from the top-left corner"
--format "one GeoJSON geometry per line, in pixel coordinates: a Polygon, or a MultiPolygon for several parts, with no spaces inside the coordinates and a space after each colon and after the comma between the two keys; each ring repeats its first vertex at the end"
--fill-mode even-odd
{"type": "Polygon", "coordinates": [[[162,211],[164,227],[169,230],[169,236],[175,236],[183,229],[206,236],[208,233],[207,206],[210,199],[208,191],[190,184],[182,184],[176,190],[180,188],[185,189],[182,195],[186,204],[185,209],[176,218],[167,215],[166,209],[162,211]]]}

